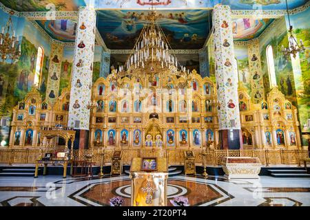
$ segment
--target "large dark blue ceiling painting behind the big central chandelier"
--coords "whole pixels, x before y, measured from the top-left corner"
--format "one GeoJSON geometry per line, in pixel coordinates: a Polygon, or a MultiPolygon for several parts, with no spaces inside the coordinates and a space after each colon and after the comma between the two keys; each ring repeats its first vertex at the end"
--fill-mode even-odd
{"type": "MultiPolygon", "coordinates": [[[[97,28],[111,50],[132,49],[147,21],[147,10],[102,10],[97,12],[97,28]]],[[[172,49],[197,50],[209,34],[211,11],[163,10],[157,23],[172,49]]]]}

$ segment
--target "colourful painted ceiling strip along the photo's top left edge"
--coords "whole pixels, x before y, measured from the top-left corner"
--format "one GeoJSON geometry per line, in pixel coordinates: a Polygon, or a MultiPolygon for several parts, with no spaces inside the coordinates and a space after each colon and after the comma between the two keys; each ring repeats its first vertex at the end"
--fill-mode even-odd
{"type": "Polygon", "coordinates": [[[0,0],[3,5],[19,12],[77,11],[84,0],[0,0]]]}

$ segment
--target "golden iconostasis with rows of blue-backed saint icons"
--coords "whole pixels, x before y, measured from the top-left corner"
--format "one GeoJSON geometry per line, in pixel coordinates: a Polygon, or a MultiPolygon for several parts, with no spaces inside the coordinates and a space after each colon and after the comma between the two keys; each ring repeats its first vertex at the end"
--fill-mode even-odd
{"type": "MultiPolygon", "coordinates": [[[[92,85],[90,103],[90,147],[107,148],[219,148],[216,87],[194,70],[192,83],[176,77],[123,78],[123,88],[110,83],[109,76],[92,85]],[[207,144],[209,143],[209,144],[207,144]]],[[[76,87],[81,82],[76,82],[76,87]]],[[[239,85],[243,148],[300,148],[297,109],[273,87],[267,100],[251,102],[239,85]]],[[[70,88],[63,89],[52,107],[41,100],[37,89],[13,109],[11,148],[40,146],[40,130],[68,125],[70,88]]],[[[76,103],[79,104],[79,103],[76,103]]],[[[85,109],[86,111],[87,109],[85,109]]],[[[51,144],[51,143],[50,143],[51,144]]],[[[64,145],[57,138],[52,146],[64,145]]]]}

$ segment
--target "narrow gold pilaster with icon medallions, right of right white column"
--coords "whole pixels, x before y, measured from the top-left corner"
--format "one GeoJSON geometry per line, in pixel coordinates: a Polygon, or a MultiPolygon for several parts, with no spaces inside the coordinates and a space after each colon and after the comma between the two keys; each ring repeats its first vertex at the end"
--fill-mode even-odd
{"type": "Polygon", "coordinates": [[[260,63],[260,45],[258,39],[251,40],[247,53],[249,58],[249,72],[251,81],[251,100],[259,103],[264,96],[264,83],[262,81],[262,65],[260,63]]]}

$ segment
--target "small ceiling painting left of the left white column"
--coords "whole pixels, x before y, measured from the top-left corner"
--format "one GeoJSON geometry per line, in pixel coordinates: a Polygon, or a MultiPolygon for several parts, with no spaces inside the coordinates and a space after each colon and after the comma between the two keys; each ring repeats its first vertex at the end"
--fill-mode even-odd
{"type": "Polygon", "coordinates": [[[76,22],[72,20],[37,21],[37,23],[53,39],[63,42],[74,42],[76,36],[76,22]]]}

